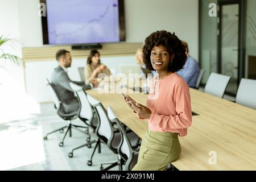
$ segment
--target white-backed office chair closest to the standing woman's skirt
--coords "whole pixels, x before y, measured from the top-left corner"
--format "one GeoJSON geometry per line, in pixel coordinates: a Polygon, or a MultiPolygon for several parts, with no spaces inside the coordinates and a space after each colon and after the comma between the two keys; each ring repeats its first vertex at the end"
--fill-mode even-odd
{"type": "MultiPolygon", "coordinates": [[[[121,169],[122,165],[125,164],[126,171],[131,171],[135,164],[137,164],[139,156],[138,144],[131,144],[131,141],[126,133],[126,130],[123,128],[122,123],[115,116],[114,111],[109,106],[108,107],[108,116],[110,121],[117,123],[119,131],[121,132],[121,142],[118,146],[118,154],[121,156],[121,169]],[[133,147],[136,146],[137,148],[133,147]]],[[[138,137],[138,136],[137,136],[138,137]]]]}

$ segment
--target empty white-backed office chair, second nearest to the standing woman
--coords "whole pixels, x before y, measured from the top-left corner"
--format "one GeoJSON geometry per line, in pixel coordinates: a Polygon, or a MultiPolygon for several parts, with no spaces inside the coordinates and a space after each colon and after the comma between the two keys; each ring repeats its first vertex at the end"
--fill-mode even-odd
{"type": "MultiPolygon", "coordinates": [[[[110,150],[114,152],[114,154],[118,154],[117,148],[119,146],[119,143],[121,142],[121,133],[118,129],[114,128],[114,123],[112,123],[108,117],[108,114],[106,113],[106,110],[104,109],[103,105],[100,101],[97,101],[92,96],[87,94],[88,101],[90,102],[90,105],[92,105],[96,111],[96,114],[98,116],[98,126],[96,129],[96,135],[98,137],[96,146],[94,147],[93,154],[101,142],[106,144],[110,150]]],[[[138,136],[133,133],[131,130],[128,133],[128,137],[130,141],[133,141],[131,143],[138,144],[139,139],[138,136]]],[[[136,146],[137,147],[137,146],[136,146]]],[[[115,166],[119,166],[119,170],[122,169],[120,158],[118,157],[116,162],[110,162],[110,163],[104,163],[101,164],[100,170],[106,171],[110,168],[113,168],[115,166]],[[103,165],[110,164],[110,166],[103,168],[103,165]]]]}

